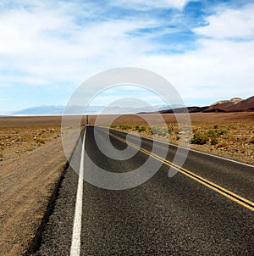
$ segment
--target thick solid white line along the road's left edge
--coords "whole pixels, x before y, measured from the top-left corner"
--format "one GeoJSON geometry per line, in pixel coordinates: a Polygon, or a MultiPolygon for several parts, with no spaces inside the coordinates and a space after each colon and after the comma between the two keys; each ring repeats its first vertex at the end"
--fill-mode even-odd
{"type": "Polygon", "coordinates": [[[86,130],[84,132],[84,139],[83,139],[82,148],[81,148],[80,174],[79,174],[78,188],[77,188],[77,194],[76,194],[75,218],[74,218],[74,224],[73,224],[70,256],[80,256],[85,138],[86,138],[86,130]]]}

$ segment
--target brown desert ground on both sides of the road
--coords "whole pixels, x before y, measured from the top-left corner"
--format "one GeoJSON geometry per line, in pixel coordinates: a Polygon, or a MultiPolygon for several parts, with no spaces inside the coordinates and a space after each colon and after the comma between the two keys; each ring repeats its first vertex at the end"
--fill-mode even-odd
{"type": "MultiPolygon", "coordinates": [[[[163,114],[163,119],[169,136],[160,131],[156,114],[114,116],[113,123],[108,115],[92,115],[89,122],[177,144],[174,114],[163,114]]],[[[85,123],[86,117],[81,126],[85,123]]],[[[191,114],[191,123],[196,134],[192,148],[254,164],[253,112],[191,114]]],[[[0,118],[0,255],[24,254],[30,247],[66,162],[60,116],[0,118]]]]}

